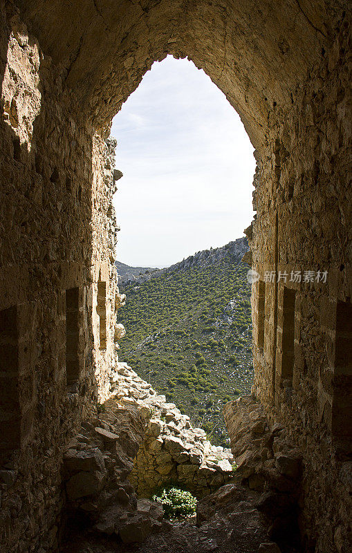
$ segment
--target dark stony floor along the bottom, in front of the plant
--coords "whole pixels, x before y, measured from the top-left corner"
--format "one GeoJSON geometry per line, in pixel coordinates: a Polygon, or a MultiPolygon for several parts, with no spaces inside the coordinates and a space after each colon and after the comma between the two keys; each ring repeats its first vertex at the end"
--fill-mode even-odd
{"type": "Polygon", "coordinates": [[[268,538],[268,519],[256,508],[259,497],[237,483],[225,485],[198,502],[196,516],[172,525],[166,522],[140,544],[75,527],[61,553],[297,553],[268,538]]]}

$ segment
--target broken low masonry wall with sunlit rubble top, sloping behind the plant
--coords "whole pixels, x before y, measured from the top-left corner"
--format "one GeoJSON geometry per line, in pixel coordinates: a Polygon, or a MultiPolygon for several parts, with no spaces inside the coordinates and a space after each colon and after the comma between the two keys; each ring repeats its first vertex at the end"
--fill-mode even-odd
{"type": "Polygon", "coordinates": [[[160,485],[178,482],[203,497],[232,478],[230,449],[212,445],[203,429],[192,428],[187,415],[127,364],[115,365],[111,394],[147,418],[145,438],[129,475],[139,496],[149,497],[160,485]]]}

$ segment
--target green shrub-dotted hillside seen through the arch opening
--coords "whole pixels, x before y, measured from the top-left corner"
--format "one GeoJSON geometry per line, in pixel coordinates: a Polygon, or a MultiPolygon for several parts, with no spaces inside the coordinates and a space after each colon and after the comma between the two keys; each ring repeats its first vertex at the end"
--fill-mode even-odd
{"type": "Polygon", "coordinates": [[[186,260],[147,282],[127,283],[127,303],[119,311],[127,331],[120,361],[176,403],[215,444],[226,438],[223,403],[249,393],[252,385],[248,265],[234,255],[236,243],[218,249],[221,259],[192,256],[190,266],[186,260]]]}

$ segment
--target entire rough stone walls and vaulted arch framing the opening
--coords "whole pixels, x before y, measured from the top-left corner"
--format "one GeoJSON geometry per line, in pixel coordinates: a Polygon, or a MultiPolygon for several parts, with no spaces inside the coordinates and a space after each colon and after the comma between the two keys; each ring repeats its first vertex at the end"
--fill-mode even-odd
{"type": "Polygon", "coordinates": [[[348,552],[350,2],[1,0],[0,28],[2,551],[57,547],[63,453],[107,397],[122,331],[111,119],[172,54],[256,150],[253,394],[302,456],[304,551],[348,552]]]}

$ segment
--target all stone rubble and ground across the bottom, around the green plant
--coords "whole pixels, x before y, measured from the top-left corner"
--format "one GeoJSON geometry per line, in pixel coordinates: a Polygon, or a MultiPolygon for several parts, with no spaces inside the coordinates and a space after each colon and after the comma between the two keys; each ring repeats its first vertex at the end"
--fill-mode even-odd
{"type": "Polygon", "coordinates": [[[109,400],[82,423],[64,453],[63,553],[71,551],[72,536],[77,552],[85,552],[86,543],[101,543],[97,551],[105,553],[106,538],[133,547],[143,543],[141,553],[164,551],[167,544],[170,552],[182,546],[202,553],[279,553],[277,543],[296,551],[301,458],[251,396],[232,402],[230,415],[225,409],[236,436],[232,455],[212,446],[202,429],[192,428],[187,415],[127,364],[116,363],[110,381],[109,400]],[[148,498],[168,482],[200,498],[196,526],[172,525],[148,498]]]}

